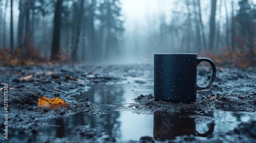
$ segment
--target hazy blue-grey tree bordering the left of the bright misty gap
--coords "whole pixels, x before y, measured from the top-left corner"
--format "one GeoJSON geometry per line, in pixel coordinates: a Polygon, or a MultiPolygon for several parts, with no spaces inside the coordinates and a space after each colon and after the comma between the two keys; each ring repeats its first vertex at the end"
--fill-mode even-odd
{"type": "Polygon", "coordinates": [[[119,0],[104,0],[100,2],[97,15],[99,24],[100,55],[101,60],[106,60],[106,55],[111,51],[118,51],[118,36],[124,31],[119,0]],[[110,49],[112,48],[112,49],[110,49]]]}

